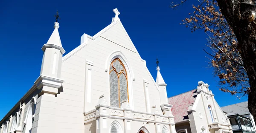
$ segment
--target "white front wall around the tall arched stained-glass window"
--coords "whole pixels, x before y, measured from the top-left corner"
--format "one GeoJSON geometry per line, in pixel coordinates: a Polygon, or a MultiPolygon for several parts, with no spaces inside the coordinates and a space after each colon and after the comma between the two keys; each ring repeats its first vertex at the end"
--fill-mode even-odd
{"type": "MultiPolygon", "coordinates": [[[[83,107],[81,106],[81,102],[83,102],[82,94],[84,94],[84,84],[86,84],[84,82],[85,61],[90,60],[93,61],[91,103],[86,103],[86,111],[92,110],[96,106],[100,95],[104,94],[108,99],[109,71],[105,72],[105,64],[108,61],[108,56],[116,51],[121,51],[125,55],[134,73],[133,78],[135,78],[135,81],[128,81],[128,84],[132,84],[134,110],[146,111],[143,78],[149,82],[148,93],[150,105],[160,106],[160,96],[154,80],[145,69],[145,64],[140,60],[136,50],[132,48],[132,44],[128,41],[128,37],[125,35],[120,22],[106,31],[104,35],[96,38],[96,40],[88,39],[87,46],[63,62],[61,78],[65,80],[63,84],[64,93],[67,89],[73,93],[79,93],[76,94],[76,97],[75,94],[67,95],[69,95],[69,98],[76,98],[75,101],[78,102],[77,106],[83,107]]],[[[66,96],[61,96],[61,98],[66,96]]],[[[131,98],[131,95],[129,95],[129,98],[131,98]]],[[[79,108],[80,110],[81,108],[79,108]]]]}

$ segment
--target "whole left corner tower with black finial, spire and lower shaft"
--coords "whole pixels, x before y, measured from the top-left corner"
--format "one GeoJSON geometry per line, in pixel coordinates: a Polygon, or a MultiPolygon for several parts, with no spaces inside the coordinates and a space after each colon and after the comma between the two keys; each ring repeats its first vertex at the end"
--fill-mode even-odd
{"type": "Polygon", "coordinates": [[[56,133],[56,130],[52,130],[52,127],[58,124],[56,122],[58,119],[56,117],[58,115],[57,97],[61,95],[61,93],[58,93],[58,91],[64,82],[64,80],[61,79],[61,64],[62,55],[65,53],[65,50],[61,45],[61,39],[58,33],[58,11],[55,17],[56,22],[54,23],[54,31],[52,32],[52,35],[47,43],[42,47],[44,55],[41,72],[40,76],[35,81],[37,89],[41,91],[38,95],[38,100],[40,97],[40,104],[37,104],[38,109],[35,111],[35,113],[38,114],[38,117],[35,117],[35,119],[44,118],[35,124],[37,127],[37,133],[56,133]],[[51,109],[50,114],[49,109],[51,109]]]}

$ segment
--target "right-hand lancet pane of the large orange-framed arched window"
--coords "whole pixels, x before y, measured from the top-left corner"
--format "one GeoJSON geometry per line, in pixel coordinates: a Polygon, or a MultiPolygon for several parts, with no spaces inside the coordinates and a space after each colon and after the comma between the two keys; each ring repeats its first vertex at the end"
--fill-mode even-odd
{"type": "Polygon", "coordinates": [[[119,94],[120,94],[120,102],[128,98],[127,95],[127,79],[124,74],[121,74],[119,77],[119,94]]]}

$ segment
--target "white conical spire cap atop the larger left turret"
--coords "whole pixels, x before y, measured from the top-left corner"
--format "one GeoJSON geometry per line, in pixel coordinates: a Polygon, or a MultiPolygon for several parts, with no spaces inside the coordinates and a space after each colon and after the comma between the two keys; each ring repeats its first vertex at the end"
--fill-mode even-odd
{"type": "Polygon", "coordinates": [[[54,31],[52,32],[52,35],[50,36],[47,43],[44,44],[44,46],[42,47],[42,50],[44,51],[47,47],[55,46],[57,49],[61,51],[61,54],[63,55],[65,53],[65,50],[62,47],[61,38],[58,32],[59,23],[55,22],[53,27],[54,27],[54,31]]]}

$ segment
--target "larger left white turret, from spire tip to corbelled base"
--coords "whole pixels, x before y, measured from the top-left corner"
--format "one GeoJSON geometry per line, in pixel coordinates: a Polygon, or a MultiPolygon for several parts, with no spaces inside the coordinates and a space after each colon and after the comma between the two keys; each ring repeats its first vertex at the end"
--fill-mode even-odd
{"type": "Polygon", "coordinates": [[[42,93],[57,94],[58,88],[64,82],[61,80],[62,55],[65,53],[61,45],[58,32],[59,23],[54,23],[54,30],[46,44],[42,47],[44,51],[40,77],[35,81],[42,93]]]}

